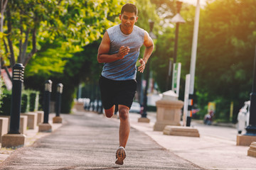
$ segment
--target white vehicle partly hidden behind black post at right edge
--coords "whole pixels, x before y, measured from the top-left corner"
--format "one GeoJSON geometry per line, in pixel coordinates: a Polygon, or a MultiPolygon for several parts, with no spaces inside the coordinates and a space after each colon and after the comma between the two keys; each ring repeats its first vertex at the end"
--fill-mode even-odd
{"type": "Polygon", "coordinates": [[[242,106],[238,113],[238,134],[242,133],[242,130],[249,125],[250,118],[250,101],[245,101],[245,105],[242,106]]]}

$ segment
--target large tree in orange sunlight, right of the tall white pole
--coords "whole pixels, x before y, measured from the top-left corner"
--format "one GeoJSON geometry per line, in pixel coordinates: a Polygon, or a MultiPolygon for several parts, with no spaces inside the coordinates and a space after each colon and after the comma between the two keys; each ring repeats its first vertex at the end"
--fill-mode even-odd
{"type": "MultiPolygon", "coordinates": [[[[253,0],[216,0],[201,13],[196,72],[198,93],[223,98],[227,101],[225,108],[234,101],[235,114],[249,99],[252,86],[255,5],[253,0]]],[[[228,117],[227,111],[225,115],[228,117]]]]}

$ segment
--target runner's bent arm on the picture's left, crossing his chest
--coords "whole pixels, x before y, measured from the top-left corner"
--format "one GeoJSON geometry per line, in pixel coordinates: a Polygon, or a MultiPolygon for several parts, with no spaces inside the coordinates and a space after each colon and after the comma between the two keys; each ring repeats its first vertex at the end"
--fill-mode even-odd
{"type": "Polygon", "coordinates": [[[104,62],[114,62],[116,60],[122,59],[129,52],[129,47],[120,47],[119,52],[114,55],[109,55],[110,52],[110,36],[107,31],[103,35],[102,42],[100,43],[100,47],[98,49],[97,61],[100,63],[104,62]]]}

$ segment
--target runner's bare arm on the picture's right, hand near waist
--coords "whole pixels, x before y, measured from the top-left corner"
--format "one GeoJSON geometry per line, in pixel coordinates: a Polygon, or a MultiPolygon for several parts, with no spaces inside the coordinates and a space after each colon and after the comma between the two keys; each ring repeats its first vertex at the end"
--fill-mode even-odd
{"type": "Polygon", "coordinates": [[[149,37],[149,33],[147,33],[146,31],[144,33],[144,46],[146,47],[146,49],[145,49],[143,58],[139,60],[141,64],[138,68],[139,72],[144,72],[144,69],[146,67],[146,62],[149,60],[149,57],[151,56],[154,50],[154,42],[149,37]]]}

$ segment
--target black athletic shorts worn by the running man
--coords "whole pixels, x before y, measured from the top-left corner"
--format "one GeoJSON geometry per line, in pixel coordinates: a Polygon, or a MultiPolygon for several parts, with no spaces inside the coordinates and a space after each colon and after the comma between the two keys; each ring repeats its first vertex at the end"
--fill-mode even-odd
{"type": "Polygon", "coordinates": [[[131,108],[137,89],[136,80],[117,81],[100,76],[99,84],[103,108],[110,109],[114,105],[131,108]]]}

